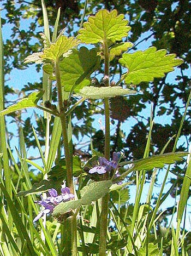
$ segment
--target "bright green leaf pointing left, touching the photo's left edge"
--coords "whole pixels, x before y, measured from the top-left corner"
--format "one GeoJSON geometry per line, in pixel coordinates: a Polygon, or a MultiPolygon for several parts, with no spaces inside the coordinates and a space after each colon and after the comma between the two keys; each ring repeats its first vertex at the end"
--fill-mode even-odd
{"type": "Polygon", "coordinates": [[[31,93],[30,95],[28,95],[28,97],[23,98],[22,100],[18,101],[16,104],[13,104],[7,107],[7,109],[1,111],[0,116],[7,115],[17,110],[27,109],[27,107],[36,107],[37,102],[39,101],[41,96],[43,96],[43,93],[44,93],[43,91],[31,93]]]}

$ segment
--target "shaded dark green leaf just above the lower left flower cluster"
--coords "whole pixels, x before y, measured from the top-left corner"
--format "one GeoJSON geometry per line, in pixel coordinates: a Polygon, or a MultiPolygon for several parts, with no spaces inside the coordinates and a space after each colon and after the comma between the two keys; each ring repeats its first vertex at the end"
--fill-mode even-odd
{"type": "Polygon", "coordinates": [[[28,196],[31,194],[37,194],[45,192],[49,189],[57,189],[59,185],[63,183],[63,179],[41,180],[39,183],[34,183],[32,189],[27,191],[20,191],[17,196],[28,196]]]}

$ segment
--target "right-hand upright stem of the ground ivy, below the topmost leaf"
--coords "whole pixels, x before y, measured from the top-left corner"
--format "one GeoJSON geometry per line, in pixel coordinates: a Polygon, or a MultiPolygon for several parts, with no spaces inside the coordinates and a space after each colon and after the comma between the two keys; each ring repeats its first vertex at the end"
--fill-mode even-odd
{"type": "MultiPolygon", "coordinates": [[[[104,55],[105,55],[105,86],[109,86],[109,50],[106,39],[104,40],[104,55]]],[[[110,158],[110,114],[109,114],[109,98],[104,99],[105,109],[105,158],[110,158]]],[[[101,217],[100,217],[100,244],[99,256],[106,254],[106,242],[108,231],[108,201],[109,194],[102,198],[101,217]]]]}

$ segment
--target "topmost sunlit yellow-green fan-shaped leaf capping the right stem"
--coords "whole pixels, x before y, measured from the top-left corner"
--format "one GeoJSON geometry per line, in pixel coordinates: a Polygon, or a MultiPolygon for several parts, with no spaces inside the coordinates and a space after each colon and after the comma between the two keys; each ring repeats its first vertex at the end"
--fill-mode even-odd
{"type": "Polygon", "coordinates": [[[78,39],[83,43],[99,43],[104,40],[112,42],[121,41],[127,37],[130,27],[124,15],[117,15],[117,10],[102,9],[95,16],[89,16],[88,21],[83,23],[79,30],[78,39]]]}

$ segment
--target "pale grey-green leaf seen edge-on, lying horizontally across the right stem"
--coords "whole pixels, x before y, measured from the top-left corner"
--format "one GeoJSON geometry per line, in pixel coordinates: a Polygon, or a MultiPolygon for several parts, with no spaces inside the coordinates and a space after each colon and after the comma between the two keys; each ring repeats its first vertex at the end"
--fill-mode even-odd
{"type": "Polygon", "coordinates": [[[77,95],[88,99],[104,99],[104,98],[112,98],[115,96],[135,94],[135,90],[123,89],[120,86],[108,86],[108,87],[94,87],[88,86],[83,87],[77,95]]]}

